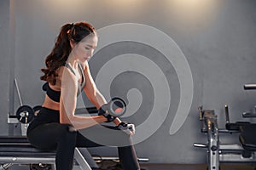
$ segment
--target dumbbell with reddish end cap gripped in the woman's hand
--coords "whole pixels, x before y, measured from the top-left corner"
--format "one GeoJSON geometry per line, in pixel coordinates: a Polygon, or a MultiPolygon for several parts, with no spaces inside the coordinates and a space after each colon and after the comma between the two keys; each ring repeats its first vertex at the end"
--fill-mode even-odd
{"type": "Polygon", "coordinates": [[[123,116],[126,111],[126,103],[124,99],[114,97],[108,104],[102,105],[99,114],[108,113],[110,116],[123,116]]]}

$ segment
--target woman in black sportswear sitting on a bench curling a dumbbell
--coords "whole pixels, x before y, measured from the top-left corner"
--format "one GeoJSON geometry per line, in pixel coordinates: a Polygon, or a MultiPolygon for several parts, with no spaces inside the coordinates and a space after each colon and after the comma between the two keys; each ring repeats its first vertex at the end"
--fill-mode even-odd
{"type": "MultiPolygon", "coordinates": [[[[46,69],[42,69],[46,81],[44,104],[38,116],[27,129],[27,138],[31,144],[42,150],[56,150],[55,165],[57,170],[73,168],[75,147],[96,147],[86,139],[79,129],[92,127],[101,122],[113,122],[119,129],[125,129],[125,123],[108,114],[99,116],[75,116],[77,96],[81,90],[88,99],[101,108],[106,99],[96,88],[90,75],[88,59],[97,46],[96,30],[85,22],[67,24],[55,41],[55,47],[45,59],[46,69]]],[[[134,131],[125,129],[125,133],[134,131]]],[[[140,169],[137,156],[131,145],[119,147],[119,159],[125,170],[140,169]]],[[[104,140],[104,139],[102,139],[104,140]]]]}

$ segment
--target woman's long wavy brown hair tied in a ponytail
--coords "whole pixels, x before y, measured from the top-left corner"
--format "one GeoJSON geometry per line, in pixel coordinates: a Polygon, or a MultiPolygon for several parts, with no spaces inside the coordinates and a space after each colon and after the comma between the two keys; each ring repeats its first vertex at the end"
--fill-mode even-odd
{"type": "Polygon", "coordinates": [[[40,79],[55,85],[56,77],[58,76],[56,71],[61,65],[65,65],[68,55],[71,53],[70,41],[73,40],[73,42],[78,43],[91,33],[96,34],[96,30],[86,22],[62,26],[60,34],[55,40],[54,48],[45,59],[46,68],[41,69],[44,72],[44,76],[40,77],[40,79]]]}

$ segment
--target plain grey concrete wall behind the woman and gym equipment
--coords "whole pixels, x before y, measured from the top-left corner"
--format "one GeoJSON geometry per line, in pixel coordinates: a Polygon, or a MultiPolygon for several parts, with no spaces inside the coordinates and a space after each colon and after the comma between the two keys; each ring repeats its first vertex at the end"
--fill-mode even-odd
{"type": "MultiPolygon", "coordinates": [[[[140,138],[138,134],[147,135],[148,131],[156,128],[156,124],[160,122],[160,127],[155,129],[153,134],[136,144],[138,156],[148,157],[150,162],[157,163],[206,162],[205,150],[195,149],[192,146],[194,142],[207,142],[206,136],[200,133],[197,107],[204,105],[206,109],[214,109],[218,113],[219,127],[224,127],[224,105],[230,105],[230,118],[234,121],[242,119],[243,111],[253,110],[256,92],[245,92],[242,86],[244,83],[256,82],[255,1],[75,0],[63,4],[61,2],[51,0],[0,2],[2,80],[0,122],[3,127],[0,133],[17,133],[17,129],[8,130],[6,120],[9,111],[13,112],[12,110],[19,106],[17,99],[12,95],[13,78],[16,77],[19,82],[23,103],[40,105],[44,99],[44,93],[41,91],[44,82],[41,82],[39,77],[42,75],[40,68],[44,67],[45,56],[53,47],[59,28],[65,23],[80,20],[89,21],[98,30],[122,23],[138,23],[158,30],[154,31],[152,37],[147,35],[148,31],[144,33],[148,36],[148,44],[159,41],[157,46],[159,48],[126,39],[127,41],[108,44],[107,47],[96,51],[95,57],[90,59],[92,75],[97,80],[102,94],[119,95],[127,101],[130,99],[129,103],[136,108],[133,114],[124,117],[125,120],[134,122],[140,127],[136,139],[140,138]],[[159,31],[164,32],[173,42],[171,44],[164,40],[161,42],[156,33],[159,31]],[[177,64],[184,62],[181,58],[170,62],[168,60],[170,56],[166,56],[161,51],[162,48],[173,52],[171,58],[185,56],[188,63],[177,64]],[[172,51],[178,48],[180,51],[177,53],[172,51]],[[107,84],[110,89],[108,88],[106,92],[102,82],[109,81],[102,72],[108,75],[109,71],[112,71],[109,65],[113,60],[110,59],[123,57],[124,54],[126,58],[131,57],[129,58],[131,60],[138,59],[138,62],[144,59],[140,64],[145,72],[137,71],[137,63],[118,62],[121,67],[131,69],[126,69],[114,77],[111,84],[107,84]],[[155,65],[148,66],[148,63],[155,65]],[[185,77],[188,66],[186,64],[189,65],[193,82],[188,81],[189,77],[181,82],[185,77]],[[154,68],[157,68],[155,71],[160,70],[163,74],[155,72],[154,68]],[[101,72],[101,69],[107,70],[101,72]],[[152,77],[148,76],[149,74],[152,77]],[[179,74],[183,76],[180,77],[179,74]],[[157,78],[160,78],[160,81],[154,84],[155,80],[159,80],[157,78]],[[161,85],[167,86],[169,92],[165,92],[165,88],[161,85]],[[190,94],[182,94],[182,92],[189,92],[191,87],[193,91],[191,107],[188,111],[178,112],[180,111],[178,105],[189,105],[190,94]],[[154,100],[159,96],[156,93],[162,95],[157,101],[154,100]],[[166,95],[168,93],[171,94],[171,102],[166,100],[169,99],[166,95]],[[141,105],[137,105],[138,102],[141,105]],[[163,105],[163,108],[153,111],[154,105],[163,105]],[[178,120],[175,119],[177,113],[180,114],[178,120]],[[143,127],[143,122],[148,121],[151,114],[157,121],[151,122],[152,126],[143,127]],[[177,124],[181,127],[177,132],[170,134],[174,120],[178,121],[177,124]]],[[[121,30],[114,31],[118,37],[121,30]]],[[[130,32],[131,27],[128,26],[125,31],[130,32]]],[[[133,34],[131,37],[143,38],[143,32],[138,32],[136,36],[133,34]]],[[[101,43],[101,38],[106,37],[100,35],[99,38],[101,43]]],[[[86,99],[84,101],[86,105],[90,105],[86,99]]],[[[221,138],[223,142],[238,141],[236,136],[229,134],[222,135],[221,138]]],[[[102,156],[116,154],[115,150],[106,148],[90,151],[102,156]]]]}

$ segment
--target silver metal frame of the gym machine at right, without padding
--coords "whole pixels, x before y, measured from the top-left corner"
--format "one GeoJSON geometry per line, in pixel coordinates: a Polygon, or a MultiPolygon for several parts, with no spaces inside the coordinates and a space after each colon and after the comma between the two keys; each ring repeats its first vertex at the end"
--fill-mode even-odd
{"type": "MultiPolygon", "coordinates": [[[[207,144],[195,143],[195,147],[207,149],[207,169],[219,170],[220,163],[255,163],[256,153],[245,150],[241,144],[220,144],[219,133],[240,133],[239,130],[218,128],[218,119],[214,111],[202,111],[200,108],[201,133],[207,134],[207,144]]],[[[240,126],[240,125],[239,125],[240,126]]]]}

